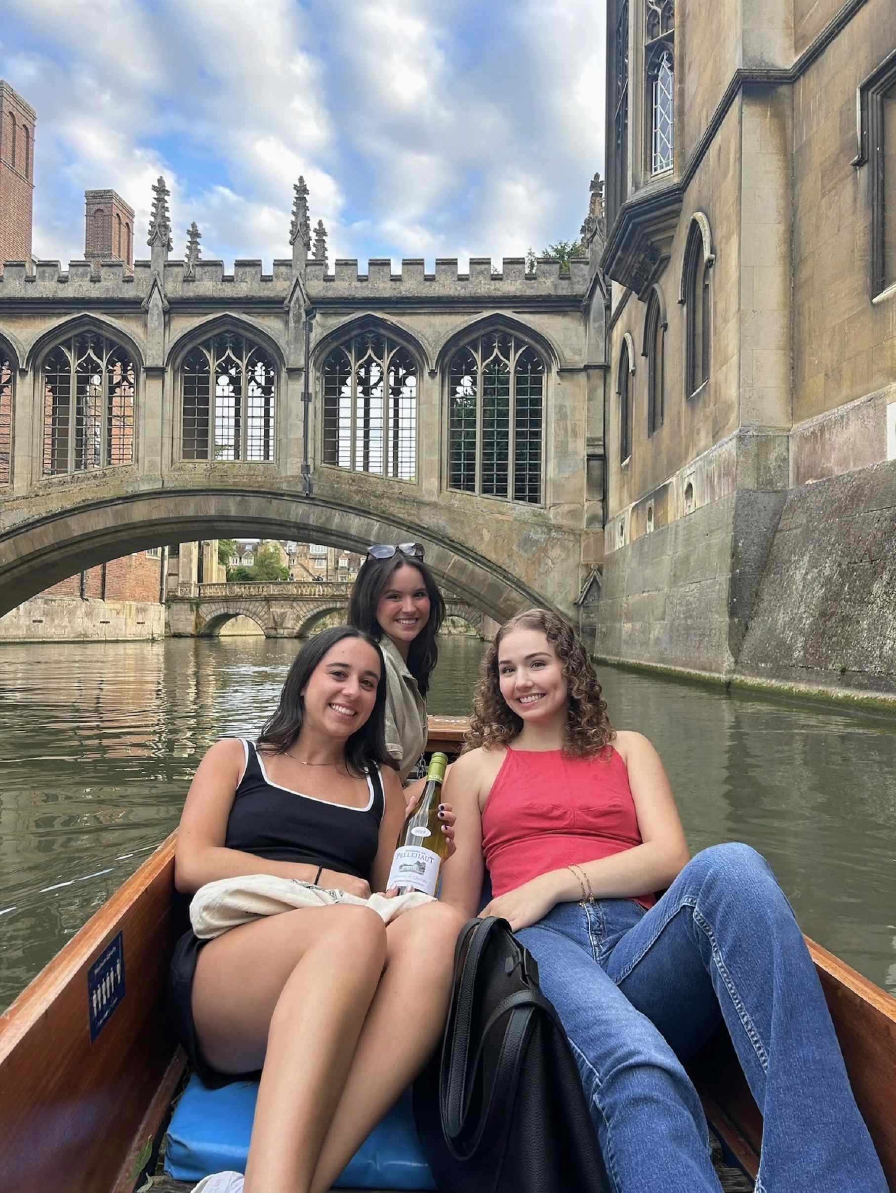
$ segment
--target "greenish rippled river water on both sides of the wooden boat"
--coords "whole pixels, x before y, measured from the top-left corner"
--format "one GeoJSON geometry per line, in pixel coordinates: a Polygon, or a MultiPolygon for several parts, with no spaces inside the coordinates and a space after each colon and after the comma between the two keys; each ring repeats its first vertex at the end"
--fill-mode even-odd
{"type": "MultiPolygon", "coordinates": [[[[447,638],[430,711],[469,711],[483,644],[447,638]]],[[[254,735],[295,642],[0,648],[0,1008],[175,827],[223,734],[254,735]]],[[[615,725],[658,747],[691,848],[742,840],[803,929],[896,993],[892,717],[604,669],[615,725]]]]}

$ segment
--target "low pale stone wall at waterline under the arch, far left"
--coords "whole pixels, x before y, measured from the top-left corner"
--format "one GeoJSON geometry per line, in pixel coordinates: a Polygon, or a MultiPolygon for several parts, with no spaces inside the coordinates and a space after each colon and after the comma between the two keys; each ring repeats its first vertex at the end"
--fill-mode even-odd
{"type": "Polygon", "coordinates": [[[10,642],[131,642],[164,637],[157,601],[32,596],[0,617],[0,645],[10,642]]]}

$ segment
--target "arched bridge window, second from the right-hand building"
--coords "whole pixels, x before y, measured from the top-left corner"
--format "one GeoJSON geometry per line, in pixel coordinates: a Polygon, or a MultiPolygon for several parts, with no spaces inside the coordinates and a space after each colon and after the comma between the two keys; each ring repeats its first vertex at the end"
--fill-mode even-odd
{"type": "Polygon", "coordinates": [[[381,332],[359,332],[323,364],[323,462],[397,481],[417,475],[417,361],[381,332]]]}

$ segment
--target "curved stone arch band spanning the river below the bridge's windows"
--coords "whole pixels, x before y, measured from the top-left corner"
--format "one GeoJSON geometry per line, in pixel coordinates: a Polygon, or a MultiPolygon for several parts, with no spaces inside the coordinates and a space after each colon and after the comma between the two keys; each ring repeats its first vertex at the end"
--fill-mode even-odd
{"type": "MultiPolygon", "coordinates": [[[[273,478],[272,478],[273,480],[273,478]]],[[[350,480],[350,478],[349,478],[350,480]]],[[[425,548],[436,579],[458,598],[502,622],[531,605],[556,607],[508,568],[462,542],[467,520],[452,525],[438,506],[409,499],[396,513],[359,508],[334,496],[305,497],[295,492],[237,487],[164,488],[125,492],[105,500],[95,482],[69,493],[66,508],[49,512],[30,501],[7,509],[0,526],[0,614],[58,580],[132,551],[205,538],[288,538],[324,543],[363,554],[371,543],[413,538],[425,548]],[[37,507],[37,508],[35,508],[37,507]],[[428,524],[418,519],[429,515],[428,524]]],[[[349,496],[347,492],[346,497],[349,496]]],[[[473,537],[471,534],[471,537],[473,537]]],[[[552,574],[568,551],[562,532],[531,549],[545,555],[541,571],[552,574]]],[[[481,538],[480,538],[481,540],[481,538]]]]}

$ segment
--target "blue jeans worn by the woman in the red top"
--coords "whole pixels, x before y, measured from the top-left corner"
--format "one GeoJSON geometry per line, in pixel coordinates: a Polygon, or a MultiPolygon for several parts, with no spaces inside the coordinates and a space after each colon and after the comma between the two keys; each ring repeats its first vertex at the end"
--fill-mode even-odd
{"type": "Polygon", "coordinates": [[[517,935],[572,1044],[614,1193],[720,1193],[682,1062],[721,1019],[765,1117],[757,1191],[888,1193],[802,933],[749,846],[704,849],[649,911],[559,903],[517,935]]]}

